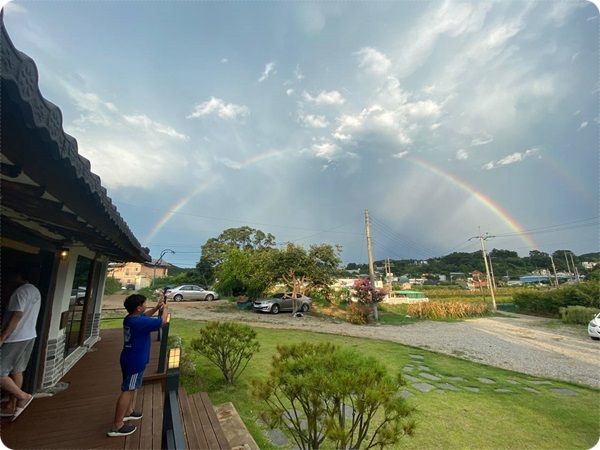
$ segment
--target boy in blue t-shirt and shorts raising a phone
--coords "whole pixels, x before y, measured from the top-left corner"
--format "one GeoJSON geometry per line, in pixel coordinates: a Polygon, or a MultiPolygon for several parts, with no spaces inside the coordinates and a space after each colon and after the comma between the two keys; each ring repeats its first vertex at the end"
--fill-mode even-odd
{"type": "Polygon", "coordinates": [[[117,400],[115,418],[108,436],[118,437],[132,434],[136,427],[127,425],[127,420],[139,420],[142,413],[134,410],[137,390],[142,386],[144,369],[150,360],[150,333],[158,331],[167,323],[168,308],[161,298],[154,308],[146,309],[146,297],[130,295],[123,303],[129,313],[123,319],[123,351],[121,372],[123,384],[117,400]],[[151,317],[162,308],[161,317],[151,317]]]}

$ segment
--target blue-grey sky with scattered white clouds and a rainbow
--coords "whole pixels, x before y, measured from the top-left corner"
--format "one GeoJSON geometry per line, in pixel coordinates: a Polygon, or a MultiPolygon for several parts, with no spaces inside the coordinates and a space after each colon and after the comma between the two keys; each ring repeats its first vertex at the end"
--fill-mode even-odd
{"type": "Polygon", "coordinates": [[[586,1],[20,1],[5,7],[157,258],[224,229],[366,262],[599,251],[598,8],[586,1]]]}

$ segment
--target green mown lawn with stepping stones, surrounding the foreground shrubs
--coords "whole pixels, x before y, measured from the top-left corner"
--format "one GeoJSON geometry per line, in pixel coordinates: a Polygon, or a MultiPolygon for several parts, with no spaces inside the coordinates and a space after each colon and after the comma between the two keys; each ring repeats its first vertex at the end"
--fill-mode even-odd
{"type": "MultiPolygon", "coordinates": [[[[119,325],[119,321],[103,322],[103,327],[119,325]]],[[[201,322],[175,319],[170,334],[180,336],[184,346],[189,348],[191,339],[197,336],[197,330],[202,326],[201,322]]],[[[257,422],[262,404],[252,398],[251,381],[268,373],[277,345],[302,341],[353,347],[362,354],[377,357],[391,372],[404,371],[414,377],[408,382],[406,391],[411,394],[408,401],[417,408],[417,430],[415,436],[403,440],[399,448],[588,449],[598,439],[598,390],[543,380],[392,342],[291,330],[255,330],[261,349],[236,386],[224,385],[220,372],[189,349],[187,353],[196,365],[196,375],[182,377],[182,384],[190,393],[207,391],[214,404],[233,402],[261,449],[278,447],[270,443],[264,426],[257,422]],[[424,373],[440,380],[424,379],[424,373]],[[489,383],[487,380],[492,380],[493,384],[486,384],[489,383]],[[428,383],[435,389],[422,393],[414,385],[417,381],[428,383]],[[458,390],[442,389],[448,384],[458,390]],[[473,387],[479,391],[465,389],[473,387]],[[496,389],[510,392],[497,392],[496,389]],[[566,389],[562,392],[569,395],[553,389],[566,389]]]]}

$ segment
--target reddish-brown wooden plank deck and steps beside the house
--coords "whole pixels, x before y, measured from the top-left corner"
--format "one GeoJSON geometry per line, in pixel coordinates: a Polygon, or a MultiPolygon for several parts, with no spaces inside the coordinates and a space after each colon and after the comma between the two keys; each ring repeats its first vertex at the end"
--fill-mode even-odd
{"type": "MultiPolygon", "coordinates": [[[[128,437],[109,438],[106,432],[121,385],[119,354],[123,338],[119,329],[102,331],[101,336],[102,340],[61,380],[70,383],[68,389],[53,397],[35,399],[15,422],[2,421],[0,436],[4,445],[12,449],[161,448],[164,381],[156,376],[159,342],[154,338],[146,369],[149,379],[144,378],[138,393],[137,409],[141,407],[144,413],[142,420],[132,422],[138,430],[128,437]]],[[[194,404],[197,411],[188,417],[192,422],[186,422],[187,426],[194,427],[196,436],[204,436],[204,441],[188,438],[188,448],[229,448],[218,422],[213,426],[213,419],[206,413],[208,406],[203,406],[203,416],[200,405],[205,403],[193,403],[185,394],[183,399],[185,402],[180,403],[188,407],[194,404]],[[208,446],[204,447],[203,442],[208,446]]],[[[210,408],[214,416],[212,405],[210,408]]]]}

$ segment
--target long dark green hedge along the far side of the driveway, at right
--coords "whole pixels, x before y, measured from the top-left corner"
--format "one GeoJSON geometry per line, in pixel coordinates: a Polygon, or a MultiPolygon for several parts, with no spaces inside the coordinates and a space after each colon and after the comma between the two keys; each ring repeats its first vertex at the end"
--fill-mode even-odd
{"type": "Polygon", "coordinates": [[[558,316],[561,307],[586,306],[600,309],[600,282],[562,286],[548,291],[521,291],[513,301],[519,311],[558,316]]]}

